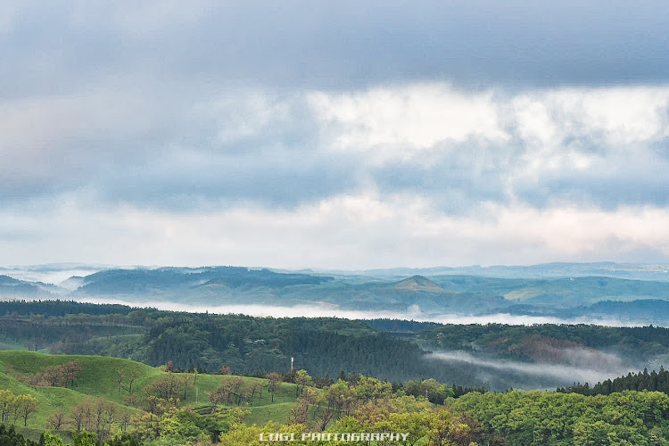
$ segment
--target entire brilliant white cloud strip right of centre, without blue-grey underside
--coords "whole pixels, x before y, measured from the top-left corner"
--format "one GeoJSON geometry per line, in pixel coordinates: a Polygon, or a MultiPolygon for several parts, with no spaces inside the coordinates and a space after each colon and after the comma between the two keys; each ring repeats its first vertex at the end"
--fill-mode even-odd
{"type": "Polygon", "coordinates": [[[511,136],[541,155],[591,150],[574,145],[579,139],[618,152],[669,132],[669,87],[662,86],[557,88],[509,96],[433,83],[314,92],[308,101],[331,144],[382,159],[407,158],[443,142],[466,149],[472,138],[513,144],[511,136]]]}

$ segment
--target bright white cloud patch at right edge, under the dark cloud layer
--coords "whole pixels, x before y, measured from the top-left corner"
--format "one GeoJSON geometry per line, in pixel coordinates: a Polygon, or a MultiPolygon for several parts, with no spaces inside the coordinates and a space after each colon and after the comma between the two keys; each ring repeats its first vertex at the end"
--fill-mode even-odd
{"type": "Polygon", "coordinates": [[[525,147],[519,175],[619,162],[669,134],[666,86],[562,88],[516,95],[507,105],[525,147]]]}

